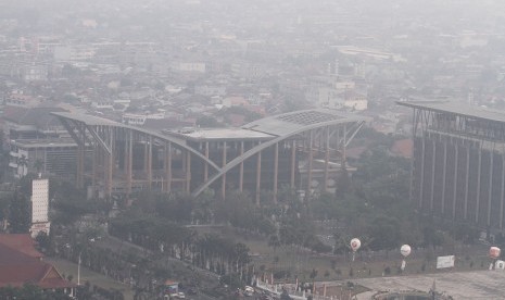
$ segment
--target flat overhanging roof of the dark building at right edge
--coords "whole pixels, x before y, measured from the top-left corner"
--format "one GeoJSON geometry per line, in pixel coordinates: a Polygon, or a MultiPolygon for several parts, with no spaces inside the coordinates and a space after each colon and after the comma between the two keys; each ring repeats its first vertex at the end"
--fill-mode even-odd
{"type": "Polygon", "coordinates": [[[435,111],[435,112],[444,112],[444,113],[453,113],[463,116],[470,116],[475,118],[488,120],[488,121],[495,121],[495,122],[505,122],[505,112],[498,110],[492,110],[482,107],[475,107],[463,102],[450,102],[450,101],[408,101],[396,102],[399,105],[413,108],[413,109],[420,109],[420,110],[428,110],[428,111],[435,111]]]}

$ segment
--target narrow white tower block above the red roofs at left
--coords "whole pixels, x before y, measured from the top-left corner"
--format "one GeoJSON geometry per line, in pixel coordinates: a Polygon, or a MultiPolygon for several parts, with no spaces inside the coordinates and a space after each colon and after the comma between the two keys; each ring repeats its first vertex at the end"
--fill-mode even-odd
{"type": "Polygon", "coordinates": [[[43,232],[49,235],[49,179],[34,179],[31,182],[31,237],[43,232]]]}

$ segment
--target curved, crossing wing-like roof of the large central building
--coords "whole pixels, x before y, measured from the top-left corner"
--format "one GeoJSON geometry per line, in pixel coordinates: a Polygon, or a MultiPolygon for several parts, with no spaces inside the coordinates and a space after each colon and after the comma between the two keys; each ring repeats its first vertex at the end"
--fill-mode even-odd
{"type": "MultiPolygon", "coordinates": [[[[93,132],[93,126],[110,126],[114,128],[129,129],[136,133],[149,135],[160,140],[164,140],[174,143],[180,149],[187,150],[195,157],[203,160],[205,163],[211,165],[215,172],[207,178],[207,180],[201,183],[194,190],[193,196],[200,195],[210,185],[212,185],[217,178],[229,172],[235,166],[239,165],[247,159],[257,154],[262,150],[276,145],[279,141],[291,138],[295,135],[310,132],[317,128],[325,128],[330,126],[342,125],[345,128],[346,141],[343,146],[346,146],[348,141],[351,140],[354,135],[359,130],[363,124],[369,121],[366,117],[356,116],[353,114],[341,113],[332,110],[303,110],[294,111],[279,115],[267,116],[249,124],[243,125],[241,128],[235,129],[194,129],[188,132],[155,132],[148,130],[135,126],[129,126],[111,120],[106,120],[99,116],[92,116],[87,114],[66,113],[66,112],[54,112],[63,123],[72,122],[74,124],[84,125],[94,138],[99,138],[93,132]],[[350,126],[348,126],[348,124],[350,126]],[[230,132],[231,130],[231,132],[230,132]],[[232,133],[232,134],[231,134],[232,133]],[[241,155],[226,162],[225,165],[218,166],[215,162],[205,157],[201,151],[190,147],[188,140],[227,140],[227,139],[255,139],[258,145],[247,150],[241,155]]],[[[67,130],[73,130],[70,126],[66,126],[67,130]]],[[[72,135],[72,133],[71,133],[72,135]]],[[[78,137],[74,134],[74,138],[78,137]]],[[[105,145],[102,146],[106,148],[105,145]]]]}

